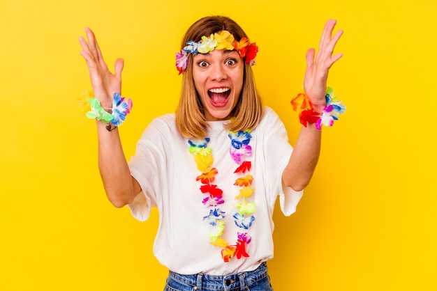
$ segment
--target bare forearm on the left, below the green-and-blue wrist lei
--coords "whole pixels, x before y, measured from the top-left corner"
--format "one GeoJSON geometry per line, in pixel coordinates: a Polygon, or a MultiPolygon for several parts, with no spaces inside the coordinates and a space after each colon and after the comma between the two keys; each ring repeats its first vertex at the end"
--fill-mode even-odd
{"type": "Polygon", "coordinates": [[[108,199],[115,207],[123,207],[133,201],[137,191],[124,157],[118,128],[110,132],[106,126],[108,124],[97,121],[98,168],[108,199]]]}

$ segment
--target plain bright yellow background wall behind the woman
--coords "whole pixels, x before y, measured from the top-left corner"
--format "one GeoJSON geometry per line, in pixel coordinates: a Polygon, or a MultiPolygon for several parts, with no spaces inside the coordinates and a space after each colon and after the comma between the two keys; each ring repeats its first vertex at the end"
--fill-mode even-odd
{"type": "Polygon", "coordinates": [[[111,68],[125,58],[131,157],[177,105],[184,31],[212,14],[259,45],[258,87],[291,143],[306,49],[329,17],[345,31],[329,85],[348,110],[323,131],[297,213],[276,211],[275,290],[437,290],[436,0],[1,0],[0,290],[163,289],[158,213],[140,223],[105,198],[94,121],[76,102],[91,88],[77,37],[89,26],[111,68]]]}

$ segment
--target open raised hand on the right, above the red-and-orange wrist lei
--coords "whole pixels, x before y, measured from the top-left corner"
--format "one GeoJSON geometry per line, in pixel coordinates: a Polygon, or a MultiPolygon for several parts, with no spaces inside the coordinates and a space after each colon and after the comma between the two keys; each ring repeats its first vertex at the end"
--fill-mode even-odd
{"type": "Polygon", "coordinates": [[[306,52],[304,89],[317,112],[323,111],[326,106],[325,91],[329,68],[343,56],[341,53],[332,56],[334,47],[343,34],[343,31],[337,31],[332,36],[335,24],[334,19],[326,22],[316,58],[314,58],[315,49],[312,48],[306,52]]]}

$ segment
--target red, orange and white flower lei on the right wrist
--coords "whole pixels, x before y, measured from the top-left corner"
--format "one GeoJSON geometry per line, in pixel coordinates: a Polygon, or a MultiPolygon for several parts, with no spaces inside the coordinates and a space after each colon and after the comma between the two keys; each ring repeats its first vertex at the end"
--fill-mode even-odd
{"type": "Polygon", "coordinates": [[[334,125],[334,120],[339,120],[339,115],[346,111],[346,106],[341,104],[341,100],[337,101],[332,88],[326,88],[325,99],[326,107],[322,113],[314,111],[313,104],[311,104],[305,93],[299,93],[291,100],[293,110],[299,114],[300,123],[304,127],[312,123],[316,123],[318,130],[322,129],[322,125],[330,127],[334,125]]]}

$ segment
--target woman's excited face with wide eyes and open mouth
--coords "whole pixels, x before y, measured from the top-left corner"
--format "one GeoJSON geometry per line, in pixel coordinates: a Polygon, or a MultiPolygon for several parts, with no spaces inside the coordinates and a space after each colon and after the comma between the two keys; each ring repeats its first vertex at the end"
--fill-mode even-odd
{"type": "Polygon", "coordinates": [[[193,80],[207,121],[227,120],[243,88],[244,60],[237,51],[193,57],[193,80]]]}

